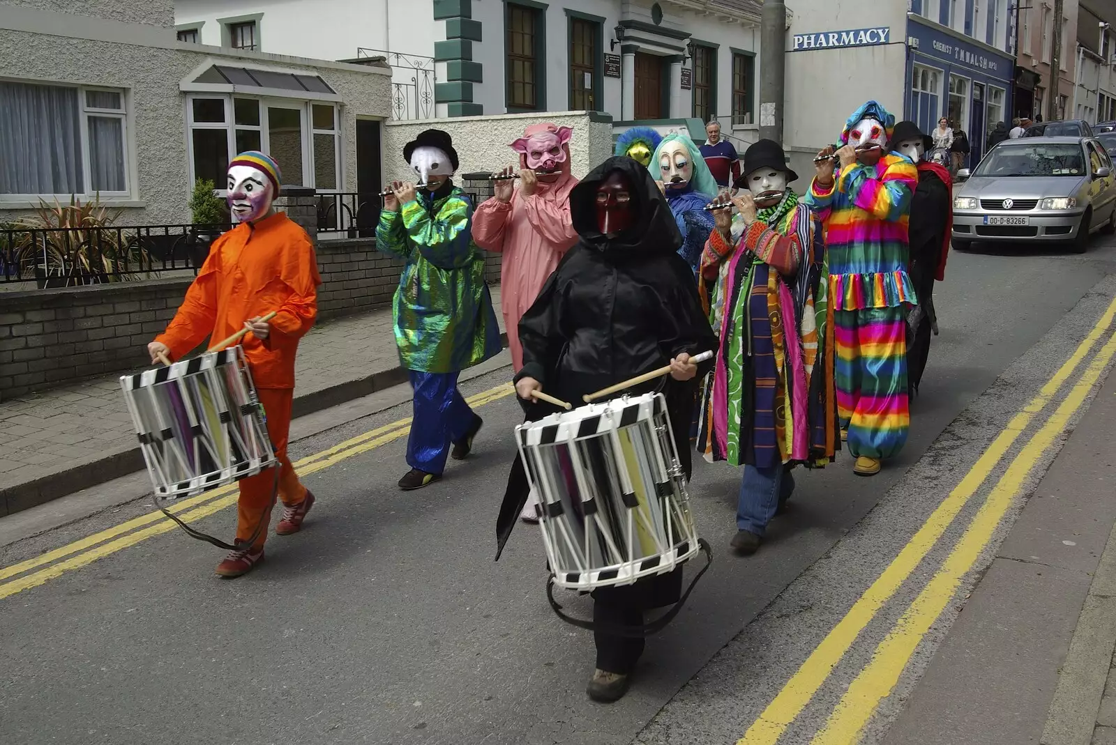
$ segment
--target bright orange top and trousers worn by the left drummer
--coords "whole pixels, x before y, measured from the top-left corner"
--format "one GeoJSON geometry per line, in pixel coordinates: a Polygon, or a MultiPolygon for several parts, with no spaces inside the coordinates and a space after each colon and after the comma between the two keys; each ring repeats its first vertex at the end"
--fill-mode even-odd
{"type": "MultiPolygon", "coordinates": [[[[266,340],[248,333],[241,346],[267,415],[268,434],[280,463],[279,496],[287,505],[306,499],[306,487],[287,457],[287,435],[295,394],[295,352],[318,315],[320,283],[314,244],[285,213],[241,223],[213,241],[174,320],[155,339],[167,346],[172,359],[179,359],[206,337],[219,341],[242,329],[248,319],[277,311],[266,340]]],[[[252,538],[262,520],[253,548],[263,545],[273,486],[270,470],[240,481],[238,541],[252,538]]]]}

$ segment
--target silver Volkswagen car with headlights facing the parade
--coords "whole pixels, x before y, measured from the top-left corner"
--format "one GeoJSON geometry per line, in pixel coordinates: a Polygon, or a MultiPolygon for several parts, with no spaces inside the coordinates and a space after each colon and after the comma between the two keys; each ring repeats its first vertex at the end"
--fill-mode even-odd
{"type": "Polygon", "coordinates": [[[1116,232],[1116,176],[1093,137],[1023,137],[989,151],[953,190],[953,246],[973,241],[1070,241],[1116,232]]]}

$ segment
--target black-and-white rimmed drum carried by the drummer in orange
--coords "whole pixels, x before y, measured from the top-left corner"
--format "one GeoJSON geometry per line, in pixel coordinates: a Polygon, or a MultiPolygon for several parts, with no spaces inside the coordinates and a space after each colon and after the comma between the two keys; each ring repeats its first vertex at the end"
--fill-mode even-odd
{"type": "Polygon", "coordinates": [[[121,388],[156,503],[276,464],[241,347],[122,376],[121,388]]]}

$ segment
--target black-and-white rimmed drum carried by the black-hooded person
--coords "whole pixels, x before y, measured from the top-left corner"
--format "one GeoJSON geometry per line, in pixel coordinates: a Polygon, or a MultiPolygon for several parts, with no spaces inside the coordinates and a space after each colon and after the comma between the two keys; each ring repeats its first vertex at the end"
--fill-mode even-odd
{"type": "Polygon", "coordinates": [[[631,584],[699,551],[666,400],[624,397],[516,428],[555,584],[631,584]]]}

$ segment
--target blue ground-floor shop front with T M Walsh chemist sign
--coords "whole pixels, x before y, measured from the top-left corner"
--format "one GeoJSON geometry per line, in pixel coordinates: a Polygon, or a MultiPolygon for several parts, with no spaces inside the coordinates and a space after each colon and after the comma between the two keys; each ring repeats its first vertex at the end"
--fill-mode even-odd
{"type": "Polygon", "coordinates": [[[969,135],[975,164],[995,124],[1011,126],[1016,60],[914,14],[907,16],[907,49],[906,118],[930,133],[945,116],[969,135]]]}

